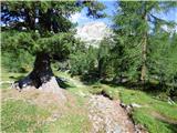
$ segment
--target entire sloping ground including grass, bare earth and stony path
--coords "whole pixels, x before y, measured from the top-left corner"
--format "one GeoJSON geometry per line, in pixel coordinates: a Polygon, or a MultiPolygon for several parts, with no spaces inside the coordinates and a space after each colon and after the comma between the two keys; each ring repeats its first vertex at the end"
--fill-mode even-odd
{"type": "MultiPolygon", "coordinates": [[[[18,92],[10,89],[9,83],[2,83],[3,132],[124,133],[127,130],[129,133],[137,130],[140,130],[139,133],[146,130],[150,133],[177,132],[176,104],[154,99],[137,90],[105,84],[85,85],[66,73],[55,74],[65,78],[72,84],[63,90],[67,102],[62,102],[58,95],[40,90],[18,92]],[[136,105],[131,111],[132,117],[121,106],[123,103],[125,110],[132,104],[136,105]]],[[[3,72],[2,81],[17,80],[19,75],[22,74],[3,72]]]]}

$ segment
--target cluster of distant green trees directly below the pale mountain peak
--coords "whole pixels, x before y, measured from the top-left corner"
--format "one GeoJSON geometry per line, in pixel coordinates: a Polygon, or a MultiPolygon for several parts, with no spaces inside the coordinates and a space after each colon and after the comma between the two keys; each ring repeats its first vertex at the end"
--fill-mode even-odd
{"type": "Polygon", "coordinates": [[[82,75],[83,80],[105,80],[114,75],[111,57],[111,40],[103,39],[98,48],[79,44],[70,57],[71,73],[82,75]],[[79,47],[80,45],[80,47],[79,47]]]}

